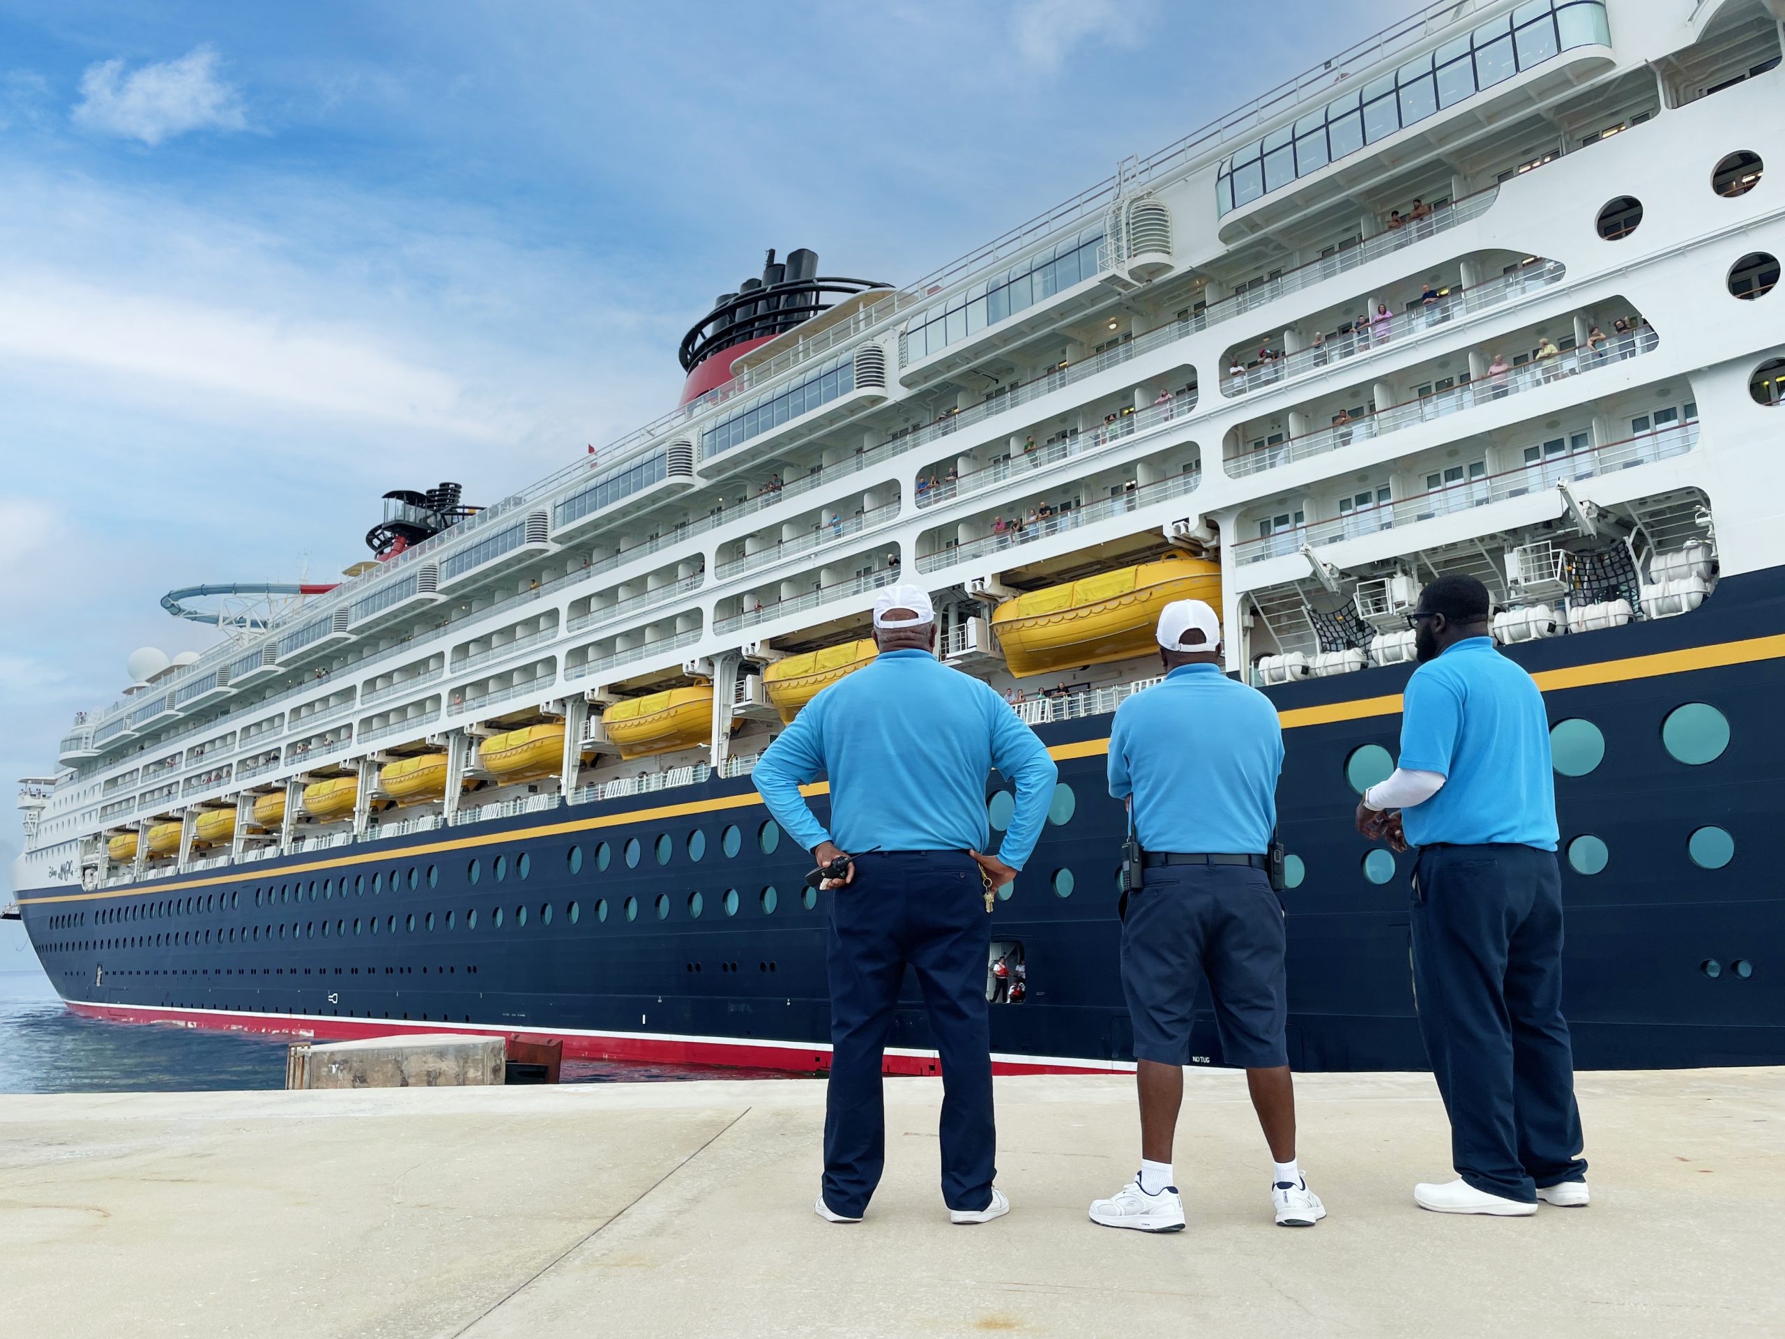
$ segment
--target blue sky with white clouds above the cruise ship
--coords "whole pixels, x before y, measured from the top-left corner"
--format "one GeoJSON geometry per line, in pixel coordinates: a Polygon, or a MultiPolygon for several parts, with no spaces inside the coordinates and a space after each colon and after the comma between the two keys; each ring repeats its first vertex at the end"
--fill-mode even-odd
{"type": "Polygon", "coordinates": [[[0,0],[0,766],[207,643],[168,587],[673,405],[766,246],[910,280],[1403,5],[1264,12],[0,0]]]}

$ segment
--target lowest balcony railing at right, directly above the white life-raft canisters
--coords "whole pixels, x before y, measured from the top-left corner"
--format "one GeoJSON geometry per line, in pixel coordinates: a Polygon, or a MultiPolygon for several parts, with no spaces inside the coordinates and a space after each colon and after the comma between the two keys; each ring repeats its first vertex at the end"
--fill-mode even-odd
{"type": "Polygon", "coordinates": [[[1292,530],[1246,539],[1233,545],[1233,557],[1239,564],[1264,562],[1266,559],[1296,553],[1303,545],[1319,546],[1333,545],[1341,539],[1360,539],[1399,525],[1430,521],[1435,516],[1451,516],[1471,507],[1485,507],[1490,502],[1524,496],[1526,493],[1537,493],[1562,482],[1576,482],[1648,464],[1649,461],[1664,461],[1669,455],[1683,455],[1696,445],[1696,420],[1671,423],[1665,428],[1655,428],[1637,437],[1548,455],[1517,470],[1503,470],[1498,475],[1469,478],[1428,493],[1417,493],[1410,498],[1358,507],[1328,521],[1310,521],[1292,530]]]}

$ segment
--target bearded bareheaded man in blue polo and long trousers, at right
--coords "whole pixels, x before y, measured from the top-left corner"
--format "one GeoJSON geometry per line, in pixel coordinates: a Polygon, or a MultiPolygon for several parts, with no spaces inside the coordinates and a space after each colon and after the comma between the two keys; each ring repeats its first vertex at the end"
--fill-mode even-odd
{"type": "Polygon", "coordinates": [[[1414,861],[1419,1032],[1451,1121],[1444,1214],[1523,1218],[1587,1203],[1574,1055],[1562,1018],[1562,875],[1544,698],[1489,637],[1474,577],[1439,577],[1408,616],[1419,668],[1401,757],[1357,830],[1414,861]]]}

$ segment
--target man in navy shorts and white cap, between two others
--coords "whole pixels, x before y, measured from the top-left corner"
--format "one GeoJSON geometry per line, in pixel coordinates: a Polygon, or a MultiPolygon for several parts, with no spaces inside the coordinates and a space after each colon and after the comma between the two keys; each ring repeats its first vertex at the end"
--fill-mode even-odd
{"type": "Polygon", "coordinates": [[[1110,794],[1128,803],[1144,886],[1128,898],[1123,989],[1133,1021],[1141,1169],[1091,1221],[1176,1232],[1183,1203],[1171,1139],[1183,1103],[1196,991],[1208,982],[1221,1062],[1246,1087],[1271,1146],[1282,1227],[1326,1216],[1296,1162],[1296,1094],[1283,1043],[1283,903],[1271,889],[1271,834],[1283,730],[1269,698],[1221,671],[1221,621],[1201,600],[1166,605],[1155,634],[1166,680],[1110,725],[1110,794]]]}

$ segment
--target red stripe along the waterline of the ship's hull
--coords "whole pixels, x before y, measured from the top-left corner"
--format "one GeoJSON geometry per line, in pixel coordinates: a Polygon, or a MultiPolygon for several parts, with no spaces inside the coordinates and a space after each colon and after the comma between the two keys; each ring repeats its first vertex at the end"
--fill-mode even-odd
{"type": "MultiPolygon", "coordinates": [[[[750,1043],[707,1037],[637,1035],[627,1032],[573,1032],[553,1028],[498,1028],[482,1023],[414,1023],[387,1018],[336,1018],[328,1014],[250,1014],[227,1009],[154,1009],[145,1005],[105,1005],[86,1000],[64,1002],[70,1012],[118,1023],[178,1023],[220,1032],[262,1032],[327,1041],[362,1037],[405,1037],[418,1032],[446,1035],[555,1037],[564,1043],[568,1060],[643,1060],[653,1064],[710,1064],[732,1069],[780,1069],[785,1073],[823,1073],[830,1069],[830,1046],[812,1043],[750,1043]]],[[[939,1073],[935,1052],[887,1052],[882,1071],[889,1075],[939,1073]]],[[[994,1055],[994,1075],[1116,1075],[1130,1073],[1121,1060],[1071,1060],[1055,1057],[1025,1059],[994,1055]]]]}

